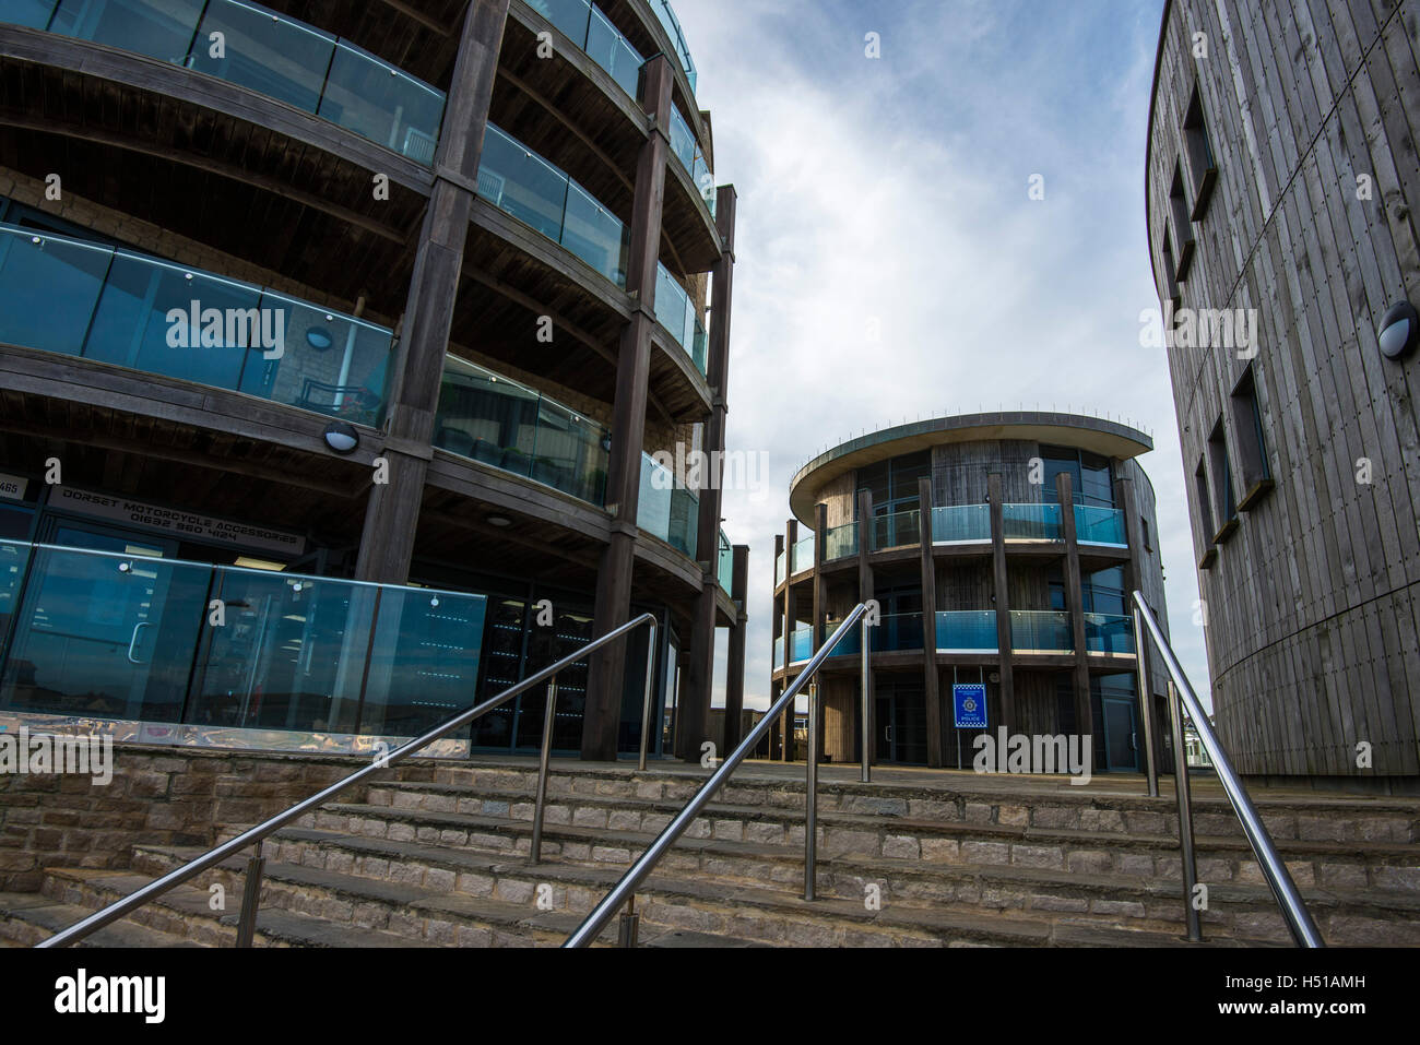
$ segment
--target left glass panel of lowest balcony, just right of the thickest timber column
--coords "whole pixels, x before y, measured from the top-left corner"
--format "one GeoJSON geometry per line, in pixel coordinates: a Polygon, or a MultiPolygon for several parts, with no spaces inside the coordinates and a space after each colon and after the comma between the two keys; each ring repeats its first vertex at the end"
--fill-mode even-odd
{"type": "Polygon", "coordinates": [[[517,476],[530,476],[538,443],[540,396],[450,356],[435,420],[435,446],[517,476]]]}

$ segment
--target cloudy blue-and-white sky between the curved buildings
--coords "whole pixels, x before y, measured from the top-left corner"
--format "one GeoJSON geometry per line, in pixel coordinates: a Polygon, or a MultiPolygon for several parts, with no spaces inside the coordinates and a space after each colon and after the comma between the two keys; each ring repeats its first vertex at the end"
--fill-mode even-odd
{"type": "MultiPolygon", "coordinates": [[[[727,449],[770,454],[767,488],[726,491],[721,513],[751,549],[746,707],[768,706],[792,474],[863,430],[1022,406],[1153,434],[1170,630],[1207,700],[1169,371],[1140,344],[1163,0],[674,7],[716,182],[738,192],[727,449]]],[[[723,633],[717,660],[721,706],[723,633]]]]}

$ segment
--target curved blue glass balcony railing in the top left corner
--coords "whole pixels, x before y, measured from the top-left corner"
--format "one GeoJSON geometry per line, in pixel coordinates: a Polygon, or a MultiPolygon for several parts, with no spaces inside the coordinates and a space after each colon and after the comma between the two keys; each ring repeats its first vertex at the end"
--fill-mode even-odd
{"type": "Polygon", "coordinates": [[[425,166],[435,159],[443,91],[345,40],[257,4],[0,0],[0,21],[185,65],[322,116],[425,166]]]}

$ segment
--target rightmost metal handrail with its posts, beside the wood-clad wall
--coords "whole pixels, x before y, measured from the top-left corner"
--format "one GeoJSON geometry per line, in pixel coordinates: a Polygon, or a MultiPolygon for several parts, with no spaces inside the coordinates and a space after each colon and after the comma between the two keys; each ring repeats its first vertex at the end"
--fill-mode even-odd
{"type": "MultiPolygon", "coordinates": [[[[1302,903],[1302,896],[1296,890],[1296,883],[1292,882],[1292,876],[1287,870],[1287,865],[1282,862],[1282,858],[1277,852],[1277,846],[1272,843],[1272,836],[1262,825],[1262,818],[1258,815],[1257,806],[1252,805],[1252,799],[1248,797],[1247,788],[1242,785],[1242,779],[1233,768],[1228,753],[1223,750],[1218,735],[1213,731],[1213,724],[1208,721],[1208,716],[1203,710],[1203,703],[1198,700],[1198,694],[1194,693],[1193,686],[1189,684],[1189,676],[1183,673],[1183,666],[1179,663],[1179,657],[1174,656],[1173,646],[1169,645],[1163,630],[1159,628],[1159,622],[1154,619],[1153,611],[1150,611],[1149,603],[1145,602],[1143,592],[1136,591],[1133,599],[1136,633],[1137,625],[1142,623],[1149,632],[1149,638],[1153,639],[1154,647],[1163,656],[1164,667],[1169,669],[1169,676],[1173,680],[1169,696],[1173,710],[1174,789],[1179,797],[1179,843],[1183,856],[1183,903],[1189,919],[1189,939],[1191,941],[1198,941],[1203,937],[1198,931],[1198,912],[1193,904],[1193,886],[1197,879],[1197,870],[1193,866],[1193,815],[1189,804],[1189,762],[1183,755],[1183,717],[1179,707],[1180,697],[1181,703],[1189,710],[1189,718],[1193,720],[1194,728],[1198,730],[1198,738],[1203,741],[1203,747],[1207,748],[1208,755],[1213,758],[1218,781],[1223,784],[1223,789],[1227,792],[1228,801],[1233,804],[1233,812],[1237,814],[1238,822],[1242,825],[1242,833],[1247,836],[1248,845],[1252,848],[1252,855],[1257,856],[1257,862],[1262,868],[1262,875],[1267,877],[1267,883],[1272,889],[1277,906],[1282,910],[1282,919],[1287,921],[1287,927],[1292,933],[1292,940],[1296,941],[1298,947],[1325,947],[1326,943],[1316,930],[1316,923],[1312,921],[1312,916],[1311,912],[1306,910],[1306,904],[1302,903]]],[[[1137,647],[1136,652],[1139,656],[1143,656],[1142,646],[1137,647]]],[[[1147,690],[1143,690],[1142,699],[1149,699],[1147,690]]]]}

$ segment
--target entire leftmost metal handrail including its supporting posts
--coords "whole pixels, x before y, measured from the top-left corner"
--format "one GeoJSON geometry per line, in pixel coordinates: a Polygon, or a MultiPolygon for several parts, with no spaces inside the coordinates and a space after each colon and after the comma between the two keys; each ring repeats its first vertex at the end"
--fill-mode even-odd
{"type": "MultiPolygon", "coordinates": [[[[493,711],[498,706],[506,704],[508,700],[511,700],[513,697],[518,696],[520,693],[524,693],[524,691],[532,689],[534,686],[537,686],[537,684],[540,684],[542,682],[548,682],[548,680],[555,679],[557,674],[562,669],[569,667],[571,664],[575,664],[578,660],[582,660],[589,653],[594,653],[598,649],[601,649],[602,646],[606,646],[608,643],[612,643],[616,639],[621,639],[628,632],[632,632],[632,630],[640,628],[642,625],[649,625],[650,626],[650,632],[648,633],[649,635],[648,645],[649,645],[649,647],[650,647],[650,650],[653,653],[655,649],[656,649],[656,618],[655,618],[653,613],[642,613],[635,620],[628,620],[621,628],[615,628],[611,632],[608,632],[606,635],[604,635],[602,638],[594,639],[592,642],[589,642],[588,645],[582,646],[575,653],[571,653],[571,655],[562,657],[555,664],[550,664],[548,667],[544,667],[537,674],[530,676],[530,677],[524,679],[523,682],[520,682],[520,683],[517,683],[514,686],[510,686],[508,689],[506,689],[498,696],[491,697],[490,700],[486,700],[481,704],[476,704],[474,707],[470,707],[467,711],[463,711],[463,713],[454,716],[453,718],[450,718],[449,721],[446,721],[443,726],[436,726],[433,730],[430,730],[425,735],[416,737],[415,740],[409,741],[408,744],[403,744],[402,747],[396,748],[390,754],[378,757],[373,762],[371,762],[365,768],[356,770],[349,777],[345,777],[344,779],[337,781],[335,784],[331,784],[324,791],[320,791],[318,794],[311,795],[310,798],[307,798],[307,799],[304,799],[301,802],[297,802],[295,805],[293,805],[291,808],[288,808],[285,812],[280,812],[275,816],[271,816],[270,819],[266,819],[261,824],[257,824],[254,828],[251,828],[248,831],[244,831],[243,833],[240,833],[236,838],[233,838],[230,842],[224,842],[224,843],[216,846],[214,849],[207,850],[202,856],[197,856],[197,858],[189,860],[183,866],[178,868],[176,870],[168,872],[162,877],[159,877],[159,879],[148,883],[146,886],[143,886],[142,889],[131,893],[129,896],[124,897],[122,900],[118,900],[116,903],[111,903],[108,907],[104,907],[102,910],[99,910],[99,912],[97,912],[94,914],[89,914],[82,921],[74,923],[68,929],[65,929],[65,930],[62,930],[60,933],[55,933],[50,939],[47,939],[47,940],[44,940],[44,941],[41,941],[41,943],[38,943],[36,946],[37,947],[65,947],[65,946],[68,946],[71,943],[82,940],[84,937],[89,936],[91,933],[98,931],[104,926],[106,926],[106,924],[109,924],[112,921],[116,921],[118,919],[124,917],[125,914],[129,914],[133,910],[138,910],[139,907],[142,907],[143,904],[146,904],[149,900],[156,899],[158,896],[162,896],[169,889],[172,889],[175,886],[180,886],[183,882],[187,882],[189,879],[196,877],[197,875],[200,875],[202,872],[207,870],[209,868],[213,868],[213,866],[222,863],[229,856],[237,855],[239,852],[241,852],[243,849],[246,849],[248,845],[256,845],[257,846],[256,853],[247,862],[247,880],[246,880],[246,889],[243,892],[243,900],[241,900],[241,916],[240,916],[239,923],[237,923],[237,946],[239,947],[250,947],[251,946],[251,936],[253,936],[253,933],[256,930],[257,904],[260,903],[260,893],[261,893],[261,889],[260,889],[261,868],[263,868],[261,842],[263,842],[263,839],[266,839],[267,835],[270,835],[271,832],[274,832],[274,831],[277,831],[280,828],[284,828],[287,824],[290,824],[294,819],[298,819],[300,816],[305,815],[311,809],[317,809],[317,808],[325,805],[325,802],[328,802],[332,798],[335,798],[335,795],[341,794],[342,791],[345,791],[345,788],[351,787],[352,784],[358,784],[359,781],[365,779],[366,777],[372,777],[373,774],[379,772],[381,770],[386,770],[390,765],[393,765],[395,762],[400,762],[400,761],[409,758],[416,751],[427,747],[433,741],[436,741],[436,740],[447,735],[449,733],[453,733],[454,730],[457,730],[462,726],[467,726],[469,723],[474,721],[476,718],[480,718],[481,716],[487,714],[488,711],[493,711]]],[[[648,657],[648,663],[650,663],[649,657],[648,657]]],[[[650,689],[652,689],[652,673],[648,672],[646,673],[646,700],[648,701],[650,700],[650,689]]],[[[548,701],[550,703],[554,699],[554,696],[555,696],[555,683],[554,683],[554,693],[548,693],[548,701]]],[[[551,737],[545,737],[544,740],[545,740],[545,743],[544,743],[544,751],[545,751],[547,747],[548,747],[548,743],[551,741],[551,737]]],[[[645,765],[646,764],[646,735],[645,735],[645,731],[642,733],[642,738],[640,738],[640,760],[642,760],[640,764],[645,765]]],[[[548,760],[544,755],[544,758],[541,761],[541,765],[540,765],[540,774],[541,775],[540,775],[540,779],[538,779],[538,809],[537,809],[534,825],[532,825],[534,833],[537,833],[537,835],[541,835],[541,832],[542,832],[541,819],[542,819],[542,799],[547,795],[547,779],[545,779],[547,772],[548,772],[548,760]]]]}

